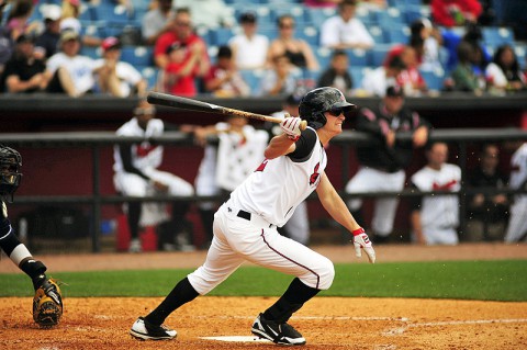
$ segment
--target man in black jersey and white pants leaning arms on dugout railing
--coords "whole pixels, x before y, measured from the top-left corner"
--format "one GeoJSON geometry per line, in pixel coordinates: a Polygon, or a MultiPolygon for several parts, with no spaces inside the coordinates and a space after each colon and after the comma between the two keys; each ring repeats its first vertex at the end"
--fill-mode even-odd
{"type": "MultiPolygon", "coordinates": [[[[346,193],[400,192],[404,189],[405,168],[412,161],[414,148],[425,146],[430,125],[404,105],[403,89],[391,86],[386,94],[374,109],[363,108],[357,116],[356,129],[379,139],[379,145],[357,148],[359,169],[346,184],[346,193]],[[412,133],[411,142],[396,139],[399,133],[412,133]]],[[[388,242],[393,230],[397,211],[396,197],[374,200],[371,229],[375,244],[388,242]]],[[[362,200],[352,199],[348,206],[354,216],[362,222],[362,200]]]]}

